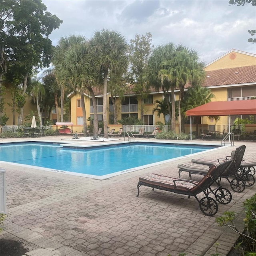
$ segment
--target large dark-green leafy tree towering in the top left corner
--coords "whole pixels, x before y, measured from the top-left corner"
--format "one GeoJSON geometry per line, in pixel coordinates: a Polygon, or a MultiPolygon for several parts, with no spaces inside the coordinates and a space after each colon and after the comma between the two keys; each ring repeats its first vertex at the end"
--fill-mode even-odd
{"type": "MultiPolygon", "coordinates": [[[[46,9],[42,0],[1,1],[1,68],[4,69],[4,62],[20,67],[22,96],[25,96],[32,69],[50,64],[52,42],[48,36],[62,23],[46,9]]],[[[23,107],[20,110],[20,124],[22,122],[23,107]]]]}

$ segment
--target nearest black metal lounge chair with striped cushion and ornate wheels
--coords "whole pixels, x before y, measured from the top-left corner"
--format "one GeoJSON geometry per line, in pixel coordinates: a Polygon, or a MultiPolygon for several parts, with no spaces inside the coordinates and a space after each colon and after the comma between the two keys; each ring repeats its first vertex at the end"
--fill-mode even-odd
{"type": "MultiPolygon", "coordinates": [[[[207,216],[213,216],[218,212],[218,204],[216,200],[221,204],[228,204],[232,199],[232,195],[228,189],[222,188],[221,186],[218,186],[214,190],[211,188],[214,182],[218,180],[218,177],[231,163],[232,161],[228,160],[222,164],[217,163],[212,165],[208,170],[208,173],[202,180],[200,180],[200,182],[172,178],[159,174],[148,174],[139,178],[137,197],[140,194],[140,186],[142,185],[151,187],[153,190],[154,188],[157,188],[176,194],[187,195],[188,197],[194,196],[199,202],[200,210],[207,216]],[[199,200],[197,195],[201,192],[204,193],[204,197],[199,200]],[[214,194],[216,200],[209,196],[210,193],[214,194]]],[[[216,184],[218,184],[218,182],[216,182],[216,184]]]]}

